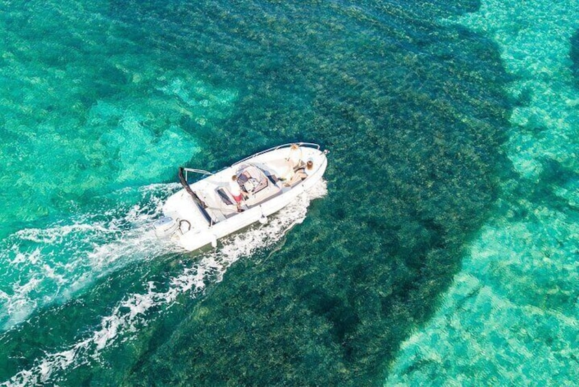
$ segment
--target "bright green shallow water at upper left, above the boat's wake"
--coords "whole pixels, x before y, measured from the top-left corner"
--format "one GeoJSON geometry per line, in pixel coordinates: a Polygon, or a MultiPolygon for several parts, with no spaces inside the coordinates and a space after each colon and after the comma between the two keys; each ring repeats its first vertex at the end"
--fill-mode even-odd
{"type": "Polygon", "coordinates": [[[196,132],[230,114],[181,53],[160,55],[138,27],[83,2],[5,4],[0,83],[0,236],[58,219],[89,195],[172,180],[196,132]],[[195,125],[183,127],[186,117],[195,125]]]}

